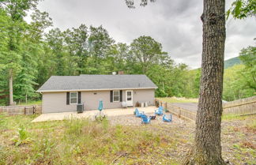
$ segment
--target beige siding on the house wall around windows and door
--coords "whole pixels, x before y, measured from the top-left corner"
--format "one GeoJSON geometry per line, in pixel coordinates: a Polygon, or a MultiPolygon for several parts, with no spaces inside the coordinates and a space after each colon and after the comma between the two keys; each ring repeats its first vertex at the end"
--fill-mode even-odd
{"type": "MultiPolygon", "coordinates": [[[[134,105],[137,102],[154,104],[154,89],[133,90],[134,105]]],[[[77,105],[66,105],[66,92],[43,92],[43,113],[55,113],[76,111],[77,105]]],[[[81,103],[85,103],[85,110],[95,110],[99,106],[99,100],[104,101],[104,108],[119,108],[121,102],[110,102],[110,91],[81,92],[81,103]],[[96,94],[95,94],[96,93],[96,94]]],[[[126,90],[122,90],[122,100],[126,100],[126,90]]]]}

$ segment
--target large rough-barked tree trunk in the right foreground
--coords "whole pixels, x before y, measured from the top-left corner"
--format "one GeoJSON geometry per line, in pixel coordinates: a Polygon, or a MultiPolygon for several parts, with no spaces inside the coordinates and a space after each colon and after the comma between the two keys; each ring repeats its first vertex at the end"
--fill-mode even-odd
{"type": "Polygon", "coordinates": [[[225,164],[220,123],[224,72],[225,1],[204,0],[201,84],[194,146],[183,164],[225,164]]]}

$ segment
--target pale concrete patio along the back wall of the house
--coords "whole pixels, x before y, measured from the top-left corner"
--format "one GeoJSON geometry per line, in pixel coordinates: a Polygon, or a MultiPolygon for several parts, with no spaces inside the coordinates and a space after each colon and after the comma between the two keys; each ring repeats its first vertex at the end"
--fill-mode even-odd
{"type": "MultiPolygon", "coordinates": [[[[145,114],[152,114],[157,107],[138,107],[139,111],[144,111],[145,114]]],[[[116,108],[116,109],[106,109],[103,110],[103,114],[107,117],[111,116],[121,116],[134,114],[135,107],[127,108],[116,108]]],[[[98,110],[84,111],[81,114],[77,114],[77,111],[72,112],[62,112],[62,113],[49,113],[49,114],[40,114],[39,117],[35,118],[32,122],[46,122],[54,120],[64,120],[67,118],[94,118],[96,114],[99,114],[98,110]]]]}

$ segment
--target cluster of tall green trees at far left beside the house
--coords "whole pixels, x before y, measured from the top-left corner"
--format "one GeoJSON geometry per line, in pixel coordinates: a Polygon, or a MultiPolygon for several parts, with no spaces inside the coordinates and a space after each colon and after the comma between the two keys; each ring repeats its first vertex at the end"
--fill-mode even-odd
{"type": "MultiPolygon", "coordinates": [[[[42,38],[43,29],[47,26],[47,13],[37,11],[36,14],[32,15],[32,24],[27,24],[24,17],[29,9],[35,9],[37,2],[37,0],[6,0],[0,2],[2,7],[0,18],[4,27],[0,32],[0,36],[4,38],[0,50],[0,68],[3,70],[1,70],[2,72],[9,74],[3,77],[2,81],[6,81],[6,79],[14,81],[14,86],[9,84],[9,88],[17,90],[14,93],[14,98],[18,100],[24,99],[24,96],[27,99],[27,95],[31,96],[35,93],[36,70],[34,67],[37,58],[34,55],[39,50],[38,43],[42,38]],[[41,24],[42,21],[43,24],[41,24]]],[[[5,82],[0,84],[8,88],[5,82]]],[[[10,92],[13,91],[10,90],[10,92]]],[[[13,97],[10,98],[10,100],[13,99],[13,97]]]]}

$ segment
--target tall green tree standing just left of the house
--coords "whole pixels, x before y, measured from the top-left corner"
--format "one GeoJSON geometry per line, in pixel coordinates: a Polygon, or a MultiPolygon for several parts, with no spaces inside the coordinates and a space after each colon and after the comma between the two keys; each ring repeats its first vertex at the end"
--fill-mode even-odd
{"type": "Polygon", "coordinates": [[[27,103],[28,98],[38,96],[35,92],[37,65],[39,54],[43,47],[41,46],[43,39],[43,31],[51,25],[51,18],[48,14],[39,10],[32,13],[31,24],[26,24],[24,36],[21,40],[21,71],[17,74],[14,81],[13,89],[15,89],[14,99],[27,103]]]}

